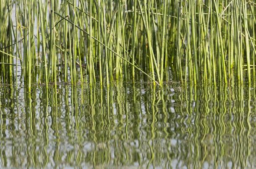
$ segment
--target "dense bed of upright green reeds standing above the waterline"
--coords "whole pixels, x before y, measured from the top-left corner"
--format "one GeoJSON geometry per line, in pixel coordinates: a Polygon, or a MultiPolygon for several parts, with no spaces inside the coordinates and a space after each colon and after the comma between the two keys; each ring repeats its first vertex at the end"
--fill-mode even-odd
{"type": "Polygon", "coordinates": [[[3,83],[255,81],[249,0],[0,0],[3,83]]]}

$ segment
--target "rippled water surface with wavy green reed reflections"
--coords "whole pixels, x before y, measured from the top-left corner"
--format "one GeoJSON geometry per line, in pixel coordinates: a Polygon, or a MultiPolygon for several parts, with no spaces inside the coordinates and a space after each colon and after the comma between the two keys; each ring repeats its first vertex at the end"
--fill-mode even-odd
{"type": "Polygon", "coordinates": [[[255,168],[255,88],[0,84],[0,167],[255,168]]]}

